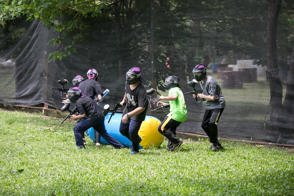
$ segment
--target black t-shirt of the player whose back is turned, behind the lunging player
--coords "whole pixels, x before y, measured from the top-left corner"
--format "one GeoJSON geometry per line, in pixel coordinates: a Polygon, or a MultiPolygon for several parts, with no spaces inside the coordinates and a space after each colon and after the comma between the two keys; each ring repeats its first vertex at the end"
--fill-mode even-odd
{"type": "Polygon", "coordinates": [[[92,79],[82,81],[78,87],[81,89],[84,95],[91,97],[92,99],[94,99],[96,95],[103,93],[100,83],[92,79]]]}

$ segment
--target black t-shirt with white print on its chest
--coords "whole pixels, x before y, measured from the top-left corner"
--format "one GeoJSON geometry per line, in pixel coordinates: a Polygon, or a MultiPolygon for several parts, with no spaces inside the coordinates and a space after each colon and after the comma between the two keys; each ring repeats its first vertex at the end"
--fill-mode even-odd
{"type": "Polygon", "coordinates": [[[144,121],[148,109],[148,99],[145,86],[140,82],[134,90],[131,90],[130,85],[126,83],[126,96],[126,107],[123,110],[123,115],[138,107],[145,107],[143,112],[131,117],[132,120],[144,121]]]}

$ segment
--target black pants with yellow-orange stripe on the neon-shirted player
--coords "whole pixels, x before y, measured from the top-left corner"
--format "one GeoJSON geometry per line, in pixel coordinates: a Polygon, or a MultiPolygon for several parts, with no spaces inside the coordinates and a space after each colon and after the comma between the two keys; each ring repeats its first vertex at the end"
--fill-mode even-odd
{"type": "Polygon", "coordinates": [[[181,124],[171,117],[166,116],[164,120],[158,126],[159,133],[163,134],[168,139],[168,148],[172,148],[173,145],[178,144],[180,139],[176,136],[176,128],[181,124]]]}

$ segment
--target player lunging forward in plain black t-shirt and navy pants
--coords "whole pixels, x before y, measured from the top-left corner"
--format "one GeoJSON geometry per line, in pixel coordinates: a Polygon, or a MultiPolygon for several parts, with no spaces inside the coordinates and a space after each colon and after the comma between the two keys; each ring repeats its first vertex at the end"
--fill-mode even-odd
{"type": "Polygon", "coordinates": [[[84,132],[91,127],[93,127],[93,129],[114,148],[125,148],[121,143],[106,132],[102,110],[93,99],[81,93],[81,89],[79,87],[70,88],[67,93],[69,100],[72,103],[76,103],[79,113],[78,115],[71,115],[71,119],[76,120],[82,118],[82,120],[74,126],[74,136],[78,148],[85,148],[83,135],[84,132]]]}

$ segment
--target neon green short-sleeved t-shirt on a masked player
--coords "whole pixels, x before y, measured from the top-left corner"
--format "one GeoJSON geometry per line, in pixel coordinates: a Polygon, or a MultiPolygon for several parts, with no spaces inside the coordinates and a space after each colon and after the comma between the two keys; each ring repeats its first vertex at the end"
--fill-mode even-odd
{"type": "Polygon", "coordinates": [[[178,122],[184,122],[187,118],[187,108],[184,94],[179,87],[174,87],[171,88],[168,92],[168,96],[172,95],[178,96],[178,99],[174,101],[169,101],[170,113],[167,116],[178,122]]]}

